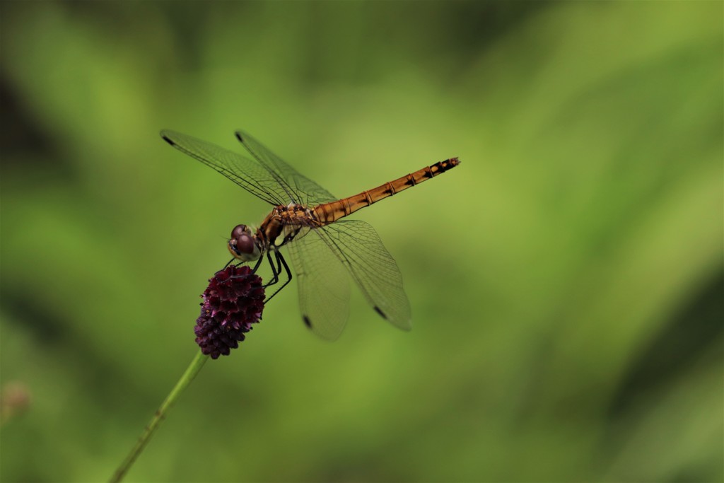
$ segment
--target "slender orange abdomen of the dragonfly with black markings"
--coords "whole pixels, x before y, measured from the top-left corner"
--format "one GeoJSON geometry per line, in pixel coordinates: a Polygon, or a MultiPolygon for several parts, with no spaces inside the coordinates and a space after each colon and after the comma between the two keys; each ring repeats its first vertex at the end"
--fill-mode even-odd
{"type": "Polygon", "coordinates": [[[377,188],[363,191],[358,195],[318,205],[313,209],[314,215],[321,224],[332,223],[337,219],[347,217],[355,211],[363,209],[366,206],[370,206],[371,204],[383,200],[388,196],[400,193],[400,191],[406,190],[411,186],[417,185],[418,183],[444,173],[448,169],[458,166],[458,164],[460,164],[458,158],[450,158],[445,159],[445,161],[439,161],[431,166],[418,169],[416,172],[410,173],[409,175],[399,177],[397,180],[392,180],[384,183],[384,185],[379,185],[377,188]]]}

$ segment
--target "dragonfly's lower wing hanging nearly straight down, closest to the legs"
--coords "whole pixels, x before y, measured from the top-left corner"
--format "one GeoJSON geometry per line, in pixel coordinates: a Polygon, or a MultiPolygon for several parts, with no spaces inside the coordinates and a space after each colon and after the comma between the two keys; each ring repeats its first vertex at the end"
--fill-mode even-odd
{"type": "Polygon", "coordinates": [[[350,311],[350,279],[345,267],[319,238],[317,230],[286,246],[297,275],[304,323],[319,337],[336,339],[350,311]]]}

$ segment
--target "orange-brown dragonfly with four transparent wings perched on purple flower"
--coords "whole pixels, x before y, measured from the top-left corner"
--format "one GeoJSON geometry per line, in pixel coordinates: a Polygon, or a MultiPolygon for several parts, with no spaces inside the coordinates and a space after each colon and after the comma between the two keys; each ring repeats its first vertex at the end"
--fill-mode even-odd
{"type": "Polygon", "coordinates": [[[439,161],[355,196],[337,198],[248,133],[237,130],[235,134],[251,158],[190,135],[161,131],[161,138],[171,146],[273,206],[258,228],[245,224],[233,228],[227,243],[232,261],[255,262],[256,273],[266,259],[272,277],[265,286],[281,282],[274,297],[292,280],[280,251],[286,247],[298,281],[302,320],[324,339],[336,339],[345,327],[350,277],[379,316],[400,329],[411,329],[410,302],[395,259],[369,223],[342,218],[458,166],[458,158],[439,161]]]}

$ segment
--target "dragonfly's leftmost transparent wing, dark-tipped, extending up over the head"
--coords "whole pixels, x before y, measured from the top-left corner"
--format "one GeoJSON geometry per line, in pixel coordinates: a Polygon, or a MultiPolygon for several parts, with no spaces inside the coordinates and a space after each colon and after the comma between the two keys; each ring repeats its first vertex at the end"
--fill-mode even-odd
{"type": "Polygon", "coordinates": [[[268,167],[216,144],[171,130],[162,130],[161,138],[182,153],[198,159],[226,176],[249,193],[273,205],[289,203],[287,192],[277,175],[268,167]]]}

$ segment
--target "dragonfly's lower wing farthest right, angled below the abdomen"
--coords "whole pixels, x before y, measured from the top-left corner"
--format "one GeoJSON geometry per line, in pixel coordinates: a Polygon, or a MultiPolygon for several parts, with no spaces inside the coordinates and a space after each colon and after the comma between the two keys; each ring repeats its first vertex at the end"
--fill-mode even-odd
{"type": "Polygon", "coordinates": [[[340,220],[318,231],[372,308],[400,329],[411,329],[410,302],[403,290],[403,276],[371,224],[340,220]]]}

